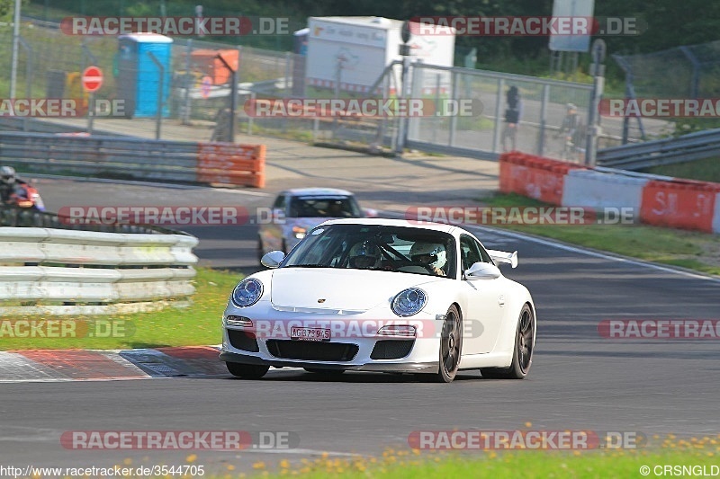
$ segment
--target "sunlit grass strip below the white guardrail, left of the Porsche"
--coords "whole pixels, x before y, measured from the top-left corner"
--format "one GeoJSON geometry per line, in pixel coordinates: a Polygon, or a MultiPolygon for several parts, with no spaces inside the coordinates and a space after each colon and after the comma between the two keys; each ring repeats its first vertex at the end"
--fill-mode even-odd
{"type": "Polygon", "coordinates": [[[167,307],[149,314],[53,317],[72,324],[76,331],[62,338],[14,337],[17,328],[8,327],[12,320],[40,321],[49,317],[4,318],[11,321],[0,324],[0,350],[119,350],[220,344],[220,316],[239,278],[237,273],[199,268],[191,306],[167,307]],[[88,332],[94,333],[93,337],[88,332]],[[110,337],[97,337],[98,334],[110,337]]]}

